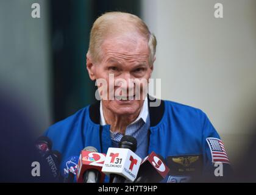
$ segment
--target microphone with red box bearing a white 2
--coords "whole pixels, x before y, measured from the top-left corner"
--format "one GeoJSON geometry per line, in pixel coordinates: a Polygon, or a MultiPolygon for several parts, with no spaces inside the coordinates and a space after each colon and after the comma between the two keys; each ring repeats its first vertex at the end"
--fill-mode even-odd
{"type": "Polygon", "coordinates": [[[101,172],[105,154],[101,154],[95,147],[85,147],[81,151],[77,165],[77,182],[102,183],[105,174],[101,172]]]}

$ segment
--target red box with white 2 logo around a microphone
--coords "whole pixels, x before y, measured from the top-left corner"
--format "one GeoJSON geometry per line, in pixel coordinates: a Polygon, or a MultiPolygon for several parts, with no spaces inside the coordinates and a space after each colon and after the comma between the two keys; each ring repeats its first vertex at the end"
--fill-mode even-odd
{"type": "MultiPolygon", "coordinates": [[[[105,154],[92,151],[81,151],[78,163],[77,163],[77,182],[82,183],[82,177],[80,174],[88,169],[97,169],[101,172],[103,163],[105,160],[105,154]]],[[[104,177],[101,177],[100,182],[104,182],[104,177]]]]}

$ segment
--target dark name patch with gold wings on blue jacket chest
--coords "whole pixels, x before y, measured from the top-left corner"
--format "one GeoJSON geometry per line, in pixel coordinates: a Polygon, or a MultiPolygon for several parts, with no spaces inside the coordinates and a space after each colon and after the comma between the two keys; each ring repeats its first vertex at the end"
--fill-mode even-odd
{"type": "Polygon", "coordinates": [[[201,173],[202,155],[179,155],[167,157],[169,175],[191,175],[201,173]]]}

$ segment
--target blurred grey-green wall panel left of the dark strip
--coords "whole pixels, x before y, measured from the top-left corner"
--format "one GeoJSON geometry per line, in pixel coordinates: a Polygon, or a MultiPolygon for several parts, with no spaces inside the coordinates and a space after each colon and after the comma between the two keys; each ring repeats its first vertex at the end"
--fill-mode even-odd
{"type": "Polygon", "coordinates": [[[52,122],[53,79],[49,4],[37,1],[41,18],[34,19],[34,2],[0,1],[0,95],[21,107],[38,135],[52,122]]]}

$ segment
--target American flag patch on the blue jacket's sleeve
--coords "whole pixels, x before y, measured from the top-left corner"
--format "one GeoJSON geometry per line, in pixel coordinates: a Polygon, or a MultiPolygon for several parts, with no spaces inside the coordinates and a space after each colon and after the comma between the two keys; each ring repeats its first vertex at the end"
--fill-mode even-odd
{"type": "Polygon", "coordinates": [[[221,140],[218,138],[206,138],[206,141],[211,150],[213,163],[221,162],[230,164],[229,157],[227,157],[227,152],[224,148],[224,143],[221,140]]]}

